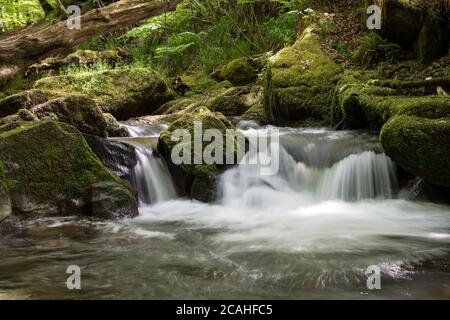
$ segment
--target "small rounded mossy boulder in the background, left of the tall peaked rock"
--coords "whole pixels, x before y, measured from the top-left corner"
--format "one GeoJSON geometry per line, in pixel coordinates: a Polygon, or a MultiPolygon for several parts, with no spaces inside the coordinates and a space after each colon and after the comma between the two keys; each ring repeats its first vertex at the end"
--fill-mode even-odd
{"type": "Polygon", "coordinates": [[[219,67],[211,77],[217,81],[230,81],[234,86],[246,85],[258,78],[258,63],[247,57],[237,58],[219,67]]]}

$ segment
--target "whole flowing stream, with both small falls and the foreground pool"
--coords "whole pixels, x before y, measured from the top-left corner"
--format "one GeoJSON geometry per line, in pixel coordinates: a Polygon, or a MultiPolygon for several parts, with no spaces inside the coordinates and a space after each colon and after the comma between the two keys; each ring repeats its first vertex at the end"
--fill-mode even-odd
{"type": "Polygon", "coordinates": [[[450,297],[450,207],[400,198],[376,136],[281,129],[278,174],[229,169],[208,205],[177,198],[158,132],[131,129],[140,216],[42,219],[1,237],[0,298],[450,297]],[[82,290],[66,289],[69,265],[82,290]],[[381,290],[367,289],[371,265],[381,290]]]}

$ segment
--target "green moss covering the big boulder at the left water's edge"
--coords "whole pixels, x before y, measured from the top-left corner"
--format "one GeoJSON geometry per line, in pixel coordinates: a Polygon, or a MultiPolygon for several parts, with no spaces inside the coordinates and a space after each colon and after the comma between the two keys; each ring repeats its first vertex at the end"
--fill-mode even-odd
{"type": "Polygon", "coordinates": [[[75,128],[53,121],[24,122],[0,133],[0,161],[8,191],[41,203],[82,199],[97,181],[119,182],[75,128]]]}

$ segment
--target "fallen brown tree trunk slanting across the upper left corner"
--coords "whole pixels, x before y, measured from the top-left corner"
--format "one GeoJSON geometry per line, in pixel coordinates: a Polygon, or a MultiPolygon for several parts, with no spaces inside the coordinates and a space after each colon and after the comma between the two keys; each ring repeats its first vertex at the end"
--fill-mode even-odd
{"type": "Polygon", "coordinates": [[[81,16],[81,29],[70,30],[67,20],[44,27],[31,25],[0,34],[0,83],[2,72],[22,69],[51,55],[146,18],[172,11],[183,0],[120,0],[81,16]]]}

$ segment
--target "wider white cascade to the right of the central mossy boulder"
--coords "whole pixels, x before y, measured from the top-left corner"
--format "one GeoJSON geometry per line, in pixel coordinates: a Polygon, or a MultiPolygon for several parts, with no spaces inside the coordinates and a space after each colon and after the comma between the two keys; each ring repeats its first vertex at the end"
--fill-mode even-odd
{"type": "Polygon", "coordinates": [[[279,162],[276,175],[261,176],[258,165],[248,164],[225,172],[221,178],[222,203],[264,207],[274,203],[295,206],[299,199],[391,199],[397,189],[395,165],[383,153],[350,154],[331,167],[296,161],[282,146],[278,157],[273,159],[279,162]]]}

